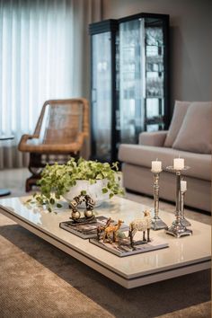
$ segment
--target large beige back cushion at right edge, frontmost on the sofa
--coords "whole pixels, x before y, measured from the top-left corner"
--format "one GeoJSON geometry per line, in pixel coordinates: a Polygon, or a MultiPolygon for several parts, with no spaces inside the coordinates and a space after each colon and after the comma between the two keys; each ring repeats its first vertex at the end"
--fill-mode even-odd
{"type": "Polygon", "coordinates": [[[192,102],[172,147],[199,154],[212,150],[212,102],[192,102]]]}

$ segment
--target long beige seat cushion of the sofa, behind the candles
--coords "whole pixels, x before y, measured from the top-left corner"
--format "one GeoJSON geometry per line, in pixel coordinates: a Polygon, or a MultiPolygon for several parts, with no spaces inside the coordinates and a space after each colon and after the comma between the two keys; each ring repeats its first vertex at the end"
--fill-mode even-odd
{"type": "Polygon", "coordinates": [[[119,160],[151,169],[152,161],[162,161],[163,170],[173,164],[173,159],[185,159],[185,165],[190,169],[183,171],[183,175],[202,180],[211,180],[211,155],[194,154],[173,148],[157,146],[140,146],[121,144],[119,146],[119,160]]]}

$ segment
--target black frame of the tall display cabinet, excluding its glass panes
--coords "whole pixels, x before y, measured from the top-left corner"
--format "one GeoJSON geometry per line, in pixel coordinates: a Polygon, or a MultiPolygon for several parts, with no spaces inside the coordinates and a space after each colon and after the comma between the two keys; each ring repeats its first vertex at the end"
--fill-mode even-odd
{"type": "MultiPolygon", "coordinates": [[[[110,19],[102,22],[94,22],[89,25],[89,33],[91,35],[91,71],[93,72],[93,35],[102,32],[110,32],[110,75],[111,75],[111,127],[110,127],[110,158],[102,158],[101,155],[96,154],[96,142],[94,140],[94,127],[93,127],[93,101],[91,96],[91,158],[100,161],[114,162],[117,161],[118,147],[120,143],[120,131],[117,129],[117,112],[119,112],[119,96],[117,95],[117,70],[116,70],[116,39],[119,32],[119,24],[122,22],[130,22],[137,19],[159,19],[163,20],[163,102],[164,102],[164,114],[163,125],[164,129],[167,129],[170,124],[170,51],[169,51],[169,15],[168,14],[156,14],[156,13],[137,13],[127,17],[120,18],[119,20],[110,19]]],[[[93,76],[91,76],[91,92],[93,89],[93,76]]],[[[146,108],[145,108],[146,111],[146,108]]],[[[146,116],[146,114],[145,114],[146,116]]],[[[158,119],[149,119],[149,122],[145,122],[145,128],[147,124],[158,124],[158,119]]],[[[138,138],[138,136],[137,136],[138,138]]]]}

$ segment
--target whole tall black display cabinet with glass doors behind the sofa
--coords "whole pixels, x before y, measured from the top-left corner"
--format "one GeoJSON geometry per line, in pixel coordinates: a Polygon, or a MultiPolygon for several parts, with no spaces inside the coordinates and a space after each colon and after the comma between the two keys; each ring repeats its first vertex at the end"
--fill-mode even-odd
{"type": "Polygon", "coordinates": [[[89,30],[91,156],[114,162],[120,143],[169,126],[169,15],[139,13],[89,30]]]}

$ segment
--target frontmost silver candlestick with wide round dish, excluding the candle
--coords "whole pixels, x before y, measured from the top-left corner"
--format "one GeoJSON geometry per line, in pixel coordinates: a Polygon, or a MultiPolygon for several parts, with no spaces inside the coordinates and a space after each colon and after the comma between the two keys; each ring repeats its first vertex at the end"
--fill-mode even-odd
{"type": "MultiPolygon", "coordinates": [[[[184,167],[182,170],[187,170],[190,167],[184,167]]],[[[186,226],[181,223],[181,170],[175,170],[172,166],[167,167],[168,170],[174,170],[176,172],[176,211],[175,221],[166,231],[166,234],[171,234],[175,237],[181,237],[184,235],[191,235],[192,231],[188,230],[186,226]]]]}

